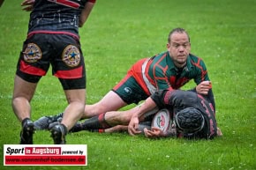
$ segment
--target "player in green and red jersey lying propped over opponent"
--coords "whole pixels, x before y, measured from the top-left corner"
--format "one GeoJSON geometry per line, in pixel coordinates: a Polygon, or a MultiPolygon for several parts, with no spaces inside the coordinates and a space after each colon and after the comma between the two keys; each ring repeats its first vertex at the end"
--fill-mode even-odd
{"type": "MultiPolygon", "coordinates": [[[[102,100],[85,107],[82,119],[99,115],[99,119],[113,118],[112,122],[117,121],[117,124],[130,121],[132,113],[139,107],[122,112],[122,115],[109,111],[117,111],[132,103],[138,104],[139,101],[146,100],[156,89],[179,89],[192,79],[197,85],[193,91],[206,95],[215,107],[207,67],[202,59],[190,53],[191,44],[188,33],[183,28],[171,30],[166,47],[168,49],[166,52],[141,59],[133,64],[124,79],[102,100]],[[106,112],[109,114],[105,115],[106,112]],[[118,122],[119,120],[121,121],[118,122]]],[[[56,122],[60,117],[62,114],[42,117],[35,122],[35,127],[48,129],[49,123],[56,122]]]]}

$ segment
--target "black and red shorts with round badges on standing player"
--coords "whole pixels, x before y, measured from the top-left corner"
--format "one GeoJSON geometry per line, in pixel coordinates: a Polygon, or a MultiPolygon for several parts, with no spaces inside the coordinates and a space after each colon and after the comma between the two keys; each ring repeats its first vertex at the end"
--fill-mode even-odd
{"type": "Polygon", "coordinates": [[[52,67],[64,90],[86,88],[86,68],[79,40],[67,34],[35,33],[23,43],[16,74],[38,83],[52,67]]]}

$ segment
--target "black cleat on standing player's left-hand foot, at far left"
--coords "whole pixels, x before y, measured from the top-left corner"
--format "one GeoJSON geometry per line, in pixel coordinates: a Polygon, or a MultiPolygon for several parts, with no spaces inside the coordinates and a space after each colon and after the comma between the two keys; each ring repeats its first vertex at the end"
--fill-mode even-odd
{"type": "Polygon", "coordinates": [[[28,119],[22,124],[19,144],[33,144],[34,122],[28,119]]]}

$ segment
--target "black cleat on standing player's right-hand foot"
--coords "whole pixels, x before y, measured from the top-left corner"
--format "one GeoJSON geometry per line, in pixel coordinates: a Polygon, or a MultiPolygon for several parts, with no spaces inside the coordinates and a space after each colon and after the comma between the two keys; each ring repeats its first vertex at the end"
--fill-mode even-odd
{"type": "Polygon", "coordinates": [[[65,136],[67,129],[64,124],[56,124],[50,131],[54,144],[66,144],[65,136]]]}

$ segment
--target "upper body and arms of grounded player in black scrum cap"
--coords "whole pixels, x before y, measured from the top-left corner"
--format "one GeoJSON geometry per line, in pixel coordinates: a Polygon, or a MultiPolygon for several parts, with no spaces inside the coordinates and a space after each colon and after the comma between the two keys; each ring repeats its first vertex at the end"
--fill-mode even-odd
{"type": "MultiPolygon", "coordinates": [[[[202,95],[195,92],[169,91],[155,92],[148,98],[139,110],[132,115],[129,122],[128,132],[130,135],[141,133],[139,122],[147,111],[154,107],[167,107],[174,120],[171,127],[177,129],[177,137],[206,138],[211,139],[217,135],[217,122],[215,109],[212,104],[202,95]]],[[[144,130],[147,137],[169,137],[173,136],[172,131],[160,129],[144,130]]]]}

